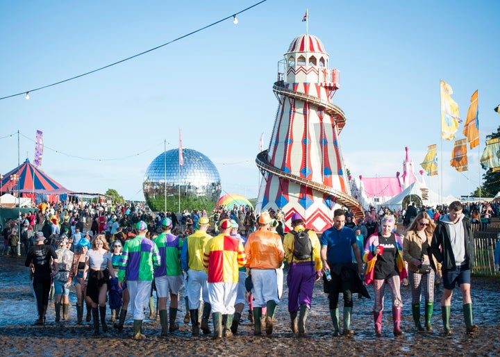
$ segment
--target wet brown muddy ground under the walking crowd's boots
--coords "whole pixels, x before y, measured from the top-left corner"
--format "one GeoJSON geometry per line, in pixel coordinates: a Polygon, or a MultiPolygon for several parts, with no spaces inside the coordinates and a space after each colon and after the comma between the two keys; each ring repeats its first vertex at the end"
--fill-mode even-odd
{"type": "MultiPolygon", "coordinates": [[[[313,306],[308,318],[308,335],[297,338],[289,328],[287,288],[276,311],[271,337],[253,336],[247,307],[238,335],[217,342],[210,335],[193,338],[190,325],[182,323],[184,306],[178,315],[181,329],[168,338],[160,338],[160,322],[146,319],[143,329],[147,340],[131,340],[132,319],[119,333],[113,327],[108,333],[92,337],[92,323],[76,326],[74,293],[70,294],[68,322],[54,322],[53,302],[49,304],[47,322],[33,326],[36,307],[29,288],[24,258],[0,256],[0,354],[3,356],[499,356],[500,354],[500,280],[473,278],[474,322],[480,331],[465,334],[460,291],[454,292],[451,328],[453,335],[442,332],[440,298],[436,294],[434,331],[417,333],[411,317],[410,288],[401,287],[403,297],[402,328],[406,334],[394,338],[390,315],[390,295],[386,291],[383,337],[376,338],[372,320],[372,300],[355,298],[351,328],[353,338],[333,337],[328,313],[328,299],[322,283],[315,285],[313,306]]],[[[286,272],[285,272],[286,274],[286,272]]],[[[286,276],[285,276],[286,281],[286,276]]],[[[371,287],[370,287],[371,289],[371,287]]],[[[371,290],[369,290],[371,292],[371,290]]],[[[342,304],[342,303],[341,303],[342,304]]],[[[340,306],[342,310],[342,306],[340,306]]],[[[108,310],[109,314],[109,310],[108,310]]],[[[342,313],[341,313],[342,315],[342,313]]],[[[342,317],[341,317],[342,318],[342,317]]]]}

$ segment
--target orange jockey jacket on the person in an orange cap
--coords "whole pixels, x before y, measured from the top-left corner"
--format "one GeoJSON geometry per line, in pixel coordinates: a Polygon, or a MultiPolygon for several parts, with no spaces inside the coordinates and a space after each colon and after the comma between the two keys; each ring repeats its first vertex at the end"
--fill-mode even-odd
{"type": "Polygon", "coordinates": [[[277,233],[263,229],[249,235],[245,244],[245,254],[247,254],[246,267],[277,269],[283,261],[285,251],[281,237],[277,233]]]}

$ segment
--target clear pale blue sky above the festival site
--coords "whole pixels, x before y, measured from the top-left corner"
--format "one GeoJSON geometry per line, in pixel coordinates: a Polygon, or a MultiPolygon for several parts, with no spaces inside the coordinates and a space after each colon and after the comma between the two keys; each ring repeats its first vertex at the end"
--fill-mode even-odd
{"type": "MultiPolygon", "coordinates": [[[[133,56],[257,2],[1,1],[0,97],[133,56]]],[[[306,33],[306,8],[309,33],[341,72],[333,100],[347,116],[340,144],[354,176],[401,172],[406,146],[417,170],[428,145],[440,150],[440,79],[464,119],[479,91],[482,153],[485,135],[500,124],[492,110],[500,103],[498,1],[268,0],[238,15],[238,25],[228,19],[29,100],[0,101],[0,136],[19,130],[31,138],[21,137],[20,153],[33,162],[39,129],[41,169],[56,181],[143,199],[144,172],[164,140],[167,150],[178,147],[182,128],[183,147],[213,160],[224,192],[257,197],[255,158],[261,133],[269,144],[278,108],[277,63],[306,33]]],[[[474,190],[483,174],[478,150],[461,174],[449,167],[452,143],[442,148],[444,195],[474,190]]],[[[0,172],[17,167],[16,138],[1,139],[0,150],[0,172]]],[[[426,178],[436,191],[440,180],[426,178]]]]}

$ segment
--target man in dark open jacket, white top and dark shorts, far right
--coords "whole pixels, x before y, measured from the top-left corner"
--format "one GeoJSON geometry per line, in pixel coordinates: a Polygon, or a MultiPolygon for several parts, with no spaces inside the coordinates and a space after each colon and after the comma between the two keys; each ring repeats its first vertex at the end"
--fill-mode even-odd
{"type": "Polygon", "coordinates": [[[441,311],[444,334],[450,335],[451,296],[457,283],[462,293],[462,310],[465,331],[472,334],[479,330],[472,323],[472,299],[470,296],[470,269],[474,267],[474,235],[469,218],[462,213],[460,201],[449,205],[448,214],[437,222],[431,242],[431,253],[442,263],[444,292],[441,311]]]}

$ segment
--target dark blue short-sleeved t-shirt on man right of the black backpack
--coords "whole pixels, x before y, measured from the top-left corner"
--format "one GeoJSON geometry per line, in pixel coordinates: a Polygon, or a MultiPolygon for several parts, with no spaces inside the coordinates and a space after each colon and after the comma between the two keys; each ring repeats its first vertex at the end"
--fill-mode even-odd
{"type": "Polygon", "coordinates": [[[356,244],[356,234],[349,227],[340,231],[331,227],[323,232],[320,240],[326,246],[326,260],[331,263],[351,263],[352,245],[356,244]]]}

